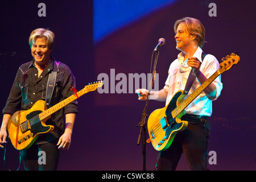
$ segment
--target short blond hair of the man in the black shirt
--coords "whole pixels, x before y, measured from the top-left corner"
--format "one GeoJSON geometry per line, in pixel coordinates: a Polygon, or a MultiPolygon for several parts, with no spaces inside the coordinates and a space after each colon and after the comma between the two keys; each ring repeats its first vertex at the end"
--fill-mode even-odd
{"type": "Polygon", "coordinates": [[[52,49],[55,35],[51,30],[44,29],[44,28],[37,28],[36,30],[33,30],[31,32],[30,38],[28,39],[30,48],[32,44],[36,42],[36,39],[43,38],[43,37],[46,38],[49,49],[52,49]]]}

